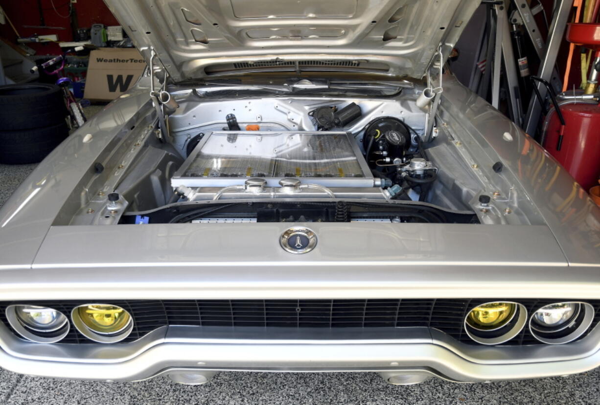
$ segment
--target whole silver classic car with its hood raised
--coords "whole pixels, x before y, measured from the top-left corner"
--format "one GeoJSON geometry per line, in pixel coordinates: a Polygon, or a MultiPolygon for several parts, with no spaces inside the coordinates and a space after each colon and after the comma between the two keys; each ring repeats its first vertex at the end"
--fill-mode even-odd
{"type": "Polygon", "coordinates": [[[479,0],[106,0],[148,69],[0,211],[0,367],[600,365],[600,210],[443,69],[479,0]]]}

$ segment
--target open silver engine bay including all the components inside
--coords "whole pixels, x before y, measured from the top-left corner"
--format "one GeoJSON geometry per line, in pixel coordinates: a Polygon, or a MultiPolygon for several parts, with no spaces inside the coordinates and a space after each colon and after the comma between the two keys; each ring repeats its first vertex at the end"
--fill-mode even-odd
{"type": "Polygon", "coordinates": [[[170,94],[166,136],[155,118],[125,139],[115,176],[92,178],[88,189],[98,194],[56,224],[481,223],[480,212],[502,223],[451,135],[434,123],[426,133],[432,118],[413,89],[345,98],[170,94]]]}

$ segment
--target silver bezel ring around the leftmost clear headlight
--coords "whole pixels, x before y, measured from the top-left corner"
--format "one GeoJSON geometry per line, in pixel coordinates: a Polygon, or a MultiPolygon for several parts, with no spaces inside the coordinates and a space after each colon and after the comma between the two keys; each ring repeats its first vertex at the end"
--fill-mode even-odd
{"type": "Polygon", "coordinates": [[[68,317],[65,316],[61,311],[55,310],[51,307],[41,307],[40,305],[29,305],[29,304],[13,304],[8,305],[5,311],[8,324],[13,328],[17,334],[26,340],[33,341],[35,343],[56,343],[61,341],[67,336],[71,327],[68,317]],[[58,322],[58,325],[52,326],[52,328],[44,329],[41,327],[34,327],[23,320],[22,316],[19,316],[19,307],[31,307],[31,308],[42,308],[46,310],[56,311],[62,320],[58,322]]]}

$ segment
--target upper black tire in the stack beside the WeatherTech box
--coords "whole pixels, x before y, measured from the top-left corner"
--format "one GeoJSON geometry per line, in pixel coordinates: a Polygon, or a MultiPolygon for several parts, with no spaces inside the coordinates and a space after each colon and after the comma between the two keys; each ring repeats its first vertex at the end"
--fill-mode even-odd
{"type": "Polygon", "coordinates": [[[1,130],[31,130],[59,124],[67,115],[61,88],[46,83],[0,86],[1,130]]]}

